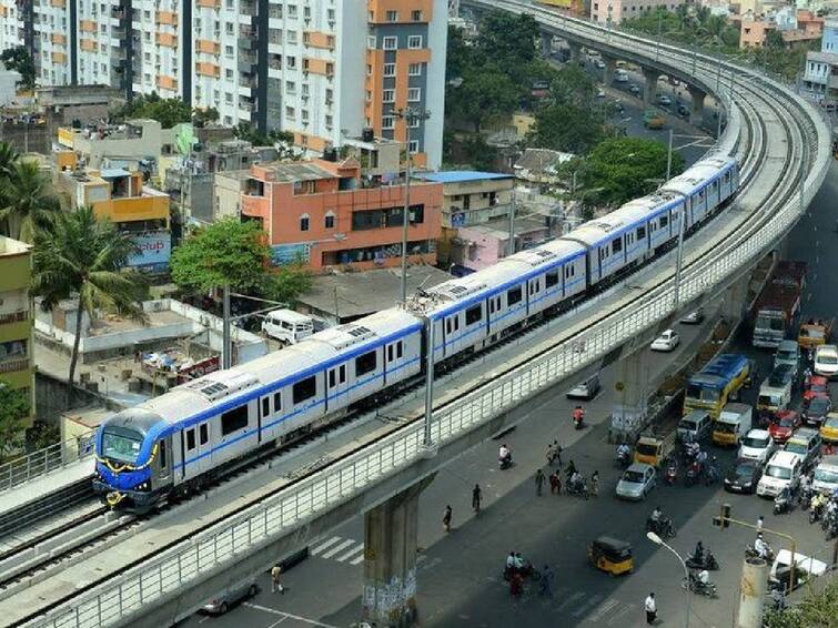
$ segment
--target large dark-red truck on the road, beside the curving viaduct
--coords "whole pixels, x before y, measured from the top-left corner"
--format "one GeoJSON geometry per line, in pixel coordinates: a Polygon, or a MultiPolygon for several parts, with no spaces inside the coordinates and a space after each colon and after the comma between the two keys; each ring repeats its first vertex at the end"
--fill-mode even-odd
{"type": "Polygon", "coordinates": [[[791,337],[805,287],[805,262],[777,262],[754,302],[754,346],[777,348],[780,341],[791,337]]]}

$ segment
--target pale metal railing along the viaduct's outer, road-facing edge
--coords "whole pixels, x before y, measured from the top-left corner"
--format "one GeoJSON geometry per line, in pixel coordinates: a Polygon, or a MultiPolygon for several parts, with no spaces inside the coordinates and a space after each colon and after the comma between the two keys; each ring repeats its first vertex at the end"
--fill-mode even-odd
{"type": "MultiPolygon", "coordinates": [[[[773,219],[759,231],[743,239],[723,256],[686,269],[680,284],[681,303],[737,276],[794,225],[829,168],[828,152],[824,159],[821,149],[818,144],[816,163],[819,166],[807,180],[809,186],[805,197],[776,209],[773,219]]],[[[673,287],[674,280],[669,280],[653,290],[645,302],[600,321],[583,336],[565,338],[534,363],[521,366],[434,413],[434,442],[444,445],[464,435],[657,324],[675,310],[673,287]]],[[[163,555],[82,594],[34,625],[82,628],[125,621],[148,605],[166,596],[176,596],[184,587],[204,579],[238,556],[251,555],[264,544],[355,497],[371,484],[414,464],[423,454],[423,426],[405,426],[375,445],[314,473],[195,538],[184,540],[163,555]]]]}

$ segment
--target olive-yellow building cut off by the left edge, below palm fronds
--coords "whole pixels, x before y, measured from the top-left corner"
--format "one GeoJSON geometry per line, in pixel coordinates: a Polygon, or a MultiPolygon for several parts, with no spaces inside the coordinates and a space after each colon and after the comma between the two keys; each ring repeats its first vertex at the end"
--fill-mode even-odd
{"type": "Polygon", "coordinates": [[[34,389],[31,267],[31,246],[0,235],[0,383],[30,394],[34,389]]]}

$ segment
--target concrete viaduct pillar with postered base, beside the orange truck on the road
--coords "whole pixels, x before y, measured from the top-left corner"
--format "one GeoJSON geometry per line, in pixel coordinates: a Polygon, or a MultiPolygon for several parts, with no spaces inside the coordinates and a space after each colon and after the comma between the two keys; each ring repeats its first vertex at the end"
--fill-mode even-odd
{"type": "MultiPolygon", "coordinates": [[[[649,341],[650,342],[650,341],[649,341]]],[[[644,344],[640,341],[638,344],[644,344]]],[[[619,443],[637,435],[646,422],[649,394],[649,352],[635,351],[619,358],[615,378],[609,439],[619,443]]]]}

